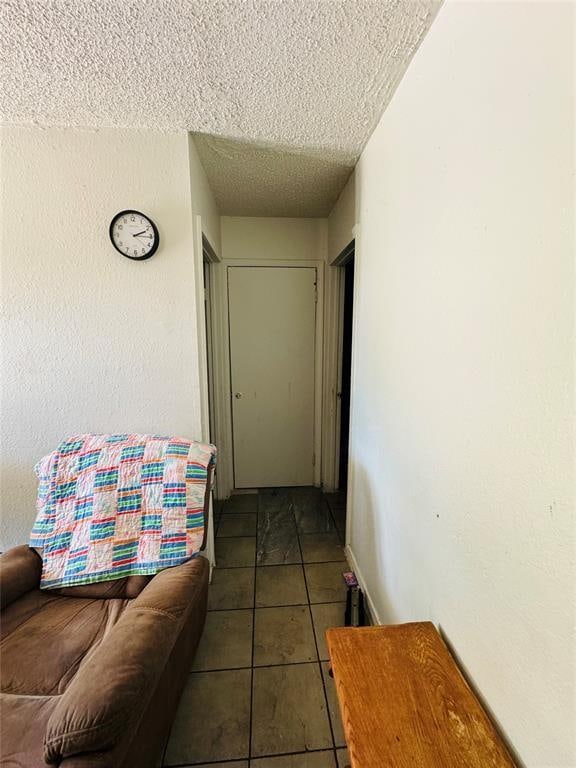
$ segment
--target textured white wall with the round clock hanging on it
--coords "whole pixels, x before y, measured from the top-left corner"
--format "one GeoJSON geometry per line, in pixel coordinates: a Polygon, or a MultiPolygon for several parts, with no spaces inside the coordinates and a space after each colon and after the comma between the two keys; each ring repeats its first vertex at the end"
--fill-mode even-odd
{"type": "MultiPolygon", "coordinates": [[[[199,432],[188,137],[2,130],[2,548],[34,519],[34,463],[75,432],[199,432]],[[112,247],[134,207],[160,231],[112,247]]],[[[201,202],[193,201],[198,212],[201,202]]]]}

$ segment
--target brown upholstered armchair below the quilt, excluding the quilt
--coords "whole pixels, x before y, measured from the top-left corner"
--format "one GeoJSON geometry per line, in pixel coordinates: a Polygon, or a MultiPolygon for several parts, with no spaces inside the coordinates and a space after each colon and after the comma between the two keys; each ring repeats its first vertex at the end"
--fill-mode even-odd
{"type": "Polygon", "coordinates": [[[204,626],[208,561],[58,593],[38,588],[40,571],[26,546],[0,557],[0,765],[160,765],[204,626]]]}

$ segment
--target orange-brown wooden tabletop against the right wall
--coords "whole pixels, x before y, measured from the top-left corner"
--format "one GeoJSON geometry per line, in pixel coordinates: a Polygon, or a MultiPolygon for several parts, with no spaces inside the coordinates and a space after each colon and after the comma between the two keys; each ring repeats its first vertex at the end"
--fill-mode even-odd
{"type": "Polygon", "coordinates": [[[352,768],[513,768],[433,624],[326,637],[352,768]]]}

